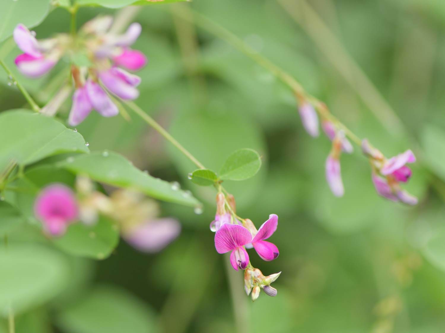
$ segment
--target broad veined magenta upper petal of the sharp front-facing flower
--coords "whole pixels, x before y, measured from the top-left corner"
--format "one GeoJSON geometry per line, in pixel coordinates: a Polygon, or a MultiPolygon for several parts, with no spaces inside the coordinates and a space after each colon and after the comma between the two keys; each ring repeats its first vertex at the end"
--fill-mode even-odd
{"type": "Polygon", "coordinates": [[[215,234],[215,248],[218,253],[226,253],[252,241],[249,230],[238,224],[225,223],[215,234]]]}

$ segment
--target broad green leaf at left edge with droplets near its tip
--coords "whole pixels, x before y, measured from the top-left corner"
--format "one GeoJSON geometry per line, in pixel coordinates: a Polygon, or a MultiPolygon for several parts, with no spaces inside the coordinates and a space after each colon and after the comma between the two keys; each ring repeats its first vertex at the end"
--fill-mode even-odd
{"type": "Polygon", "coordinates": [[[82,135],[53,118],[28,110],[11,110],[0,115],[0,169],[8,160],[19,165],[65,152],[88,152],[82,135]]]}

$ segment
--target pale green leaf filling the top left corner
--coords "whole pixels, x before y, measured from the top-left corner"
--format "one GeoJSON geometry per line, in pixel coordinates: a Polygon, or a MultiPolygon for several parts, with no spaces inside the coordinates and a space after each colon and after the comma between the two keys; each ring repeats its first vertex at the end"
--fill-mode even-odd
{"type": "Polygon", "coordinates": [[[49,12],[50,0],[2,1],[0,10],[0,42],[12,35],[17,24],[28,28],[43,21],[49,12]]]}

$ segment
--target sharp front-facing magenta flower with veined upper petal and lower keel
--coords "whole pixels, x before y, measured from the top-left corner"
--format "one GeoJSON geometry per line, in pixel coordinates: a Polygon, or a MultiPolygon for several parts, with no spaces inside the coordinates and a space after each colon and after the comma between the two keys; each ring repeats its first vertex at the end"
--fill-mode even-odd
{"type": "Polygon", "coordinates": [[[220,254],[232,251],[230,263],[233,269],[244,270],[249,263],[249,255],[243,246],[251,240],[250,231],[243,226],[225,223],[215,234],[215,248],[220,254]]]}

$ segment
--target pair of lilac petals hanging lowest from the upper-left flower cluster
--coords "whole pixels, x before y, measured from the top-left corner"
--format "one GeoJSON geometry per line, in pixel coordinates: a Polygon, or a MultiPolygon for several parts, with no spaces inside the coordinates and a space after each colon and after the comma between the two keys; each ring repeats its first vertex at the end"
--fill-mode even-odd
{"type": "Polygon", "coordinates": [[[83,87],[74,91],[73,105],[68,119],[69,125],[80,124],[93,109],[104,117],[113,117],[119,113],[116,104],[111,101],[102,87],[97,82],[88,79],[83,87]]]}

